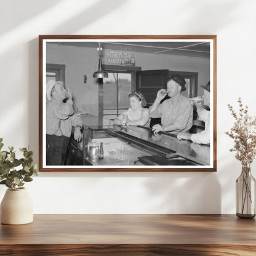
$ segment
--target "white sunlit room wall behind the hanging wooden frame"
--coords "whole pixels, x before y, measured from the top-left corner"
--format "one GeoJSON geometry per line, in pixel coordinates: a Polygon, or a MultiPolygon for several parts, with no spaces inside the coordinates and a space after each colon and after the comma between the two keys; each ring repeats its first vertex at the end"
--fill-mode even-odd
{"type": "Polygon", "coordinates": [[[34,213],[234,214],[241,165],[226,105],[241,96],[256,115],[255,10],[250,0],[2,0],[0,135],[30,145],[36,162],[38,34],[217,34],[217,172],[44,172],[26,185],[34,213]]]}

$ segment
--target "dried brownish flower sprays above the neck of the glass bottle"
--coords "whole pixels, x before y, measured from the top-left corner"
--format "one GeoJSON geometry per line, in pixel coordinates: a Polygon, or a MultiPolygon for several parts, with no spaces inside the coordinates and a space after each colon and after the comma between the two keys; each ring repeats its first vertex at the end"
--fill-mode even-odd
{"type": "Polygon", "coordinates": [[[242,167],[250,167],[256,156],[256,118],[249,116],[248,106],[242,105],[241,98],[238,99],[239,113],[228,104],[228,109],[234,117],[234,126],[226,135],[234,139],[233,148],[230,151],[236,152],[236,159],[241,161],[242,167]]]}

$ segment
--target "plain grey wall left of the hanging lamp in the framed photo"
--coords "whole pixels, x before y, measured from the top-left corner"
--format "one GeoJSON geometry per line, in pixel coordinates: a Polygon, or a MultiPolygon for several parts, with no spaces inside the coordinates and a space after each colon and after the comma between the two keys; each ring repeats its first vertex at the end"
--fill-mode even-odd
{"type": "Polygon", "coordinates": [[[74,110],[98,115],[98,84],[97,79],[92,78],[98,69],[97,49],[50,45],[46,59],[47,63],[65,65],[66,88],[73,92],[74,110]]]}

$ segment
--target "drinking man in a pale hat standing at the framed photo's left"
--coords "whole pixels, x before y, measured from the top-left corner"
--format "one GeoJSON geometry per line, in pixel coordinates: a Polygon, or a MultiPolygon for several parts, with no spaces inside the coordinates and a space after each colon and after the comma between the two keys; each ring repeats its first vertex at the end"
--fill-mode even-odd
{"type": "Polygon", "coordinates": [[[49,80],[46,93],[49,100],[46,104],[46,164],[63,166],[72,126],[75,127],[74,139],[81,140],[82,120],[74,115],[72,94],[64,89],[63,81],[49,80]]]}

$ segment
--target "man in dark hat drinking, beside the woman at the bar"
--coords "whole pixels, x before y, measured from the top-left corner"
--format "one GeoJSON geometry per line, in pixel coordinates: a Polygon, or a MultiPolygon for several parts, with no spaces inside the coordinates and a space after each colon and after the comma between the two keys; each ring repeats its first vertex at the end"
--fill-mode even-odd
{"type": "Polygon", "coordinates": [[[174,74],[167,81],[167,91],[161,89],[156,95],[156,100],[150,106],[150,118],[161,118],[161,125],[152,127],[154,133],[164,132],[186,132],[193,124],[193,106],[190,100],[182,95],[186,90],[186,81],[179,74],[174,74]],[[168,100],[160,103],[166,96],[168,100]]]}

